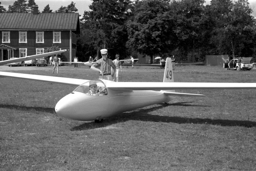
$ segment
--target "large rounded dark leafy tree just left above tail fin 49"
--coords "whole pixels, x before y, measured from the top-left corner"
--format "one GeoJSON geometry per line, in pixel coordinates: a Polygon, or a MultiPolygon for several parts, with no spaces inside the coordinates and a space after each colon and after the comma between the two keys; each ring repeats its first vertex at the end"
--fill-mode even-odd
{"type": "Polygon", "coordinates": [[[127,46],[140,53],[162,56],[172,48],[172,19],[169,0],[136,1],[134,20],[127,22],[127,46]]]}

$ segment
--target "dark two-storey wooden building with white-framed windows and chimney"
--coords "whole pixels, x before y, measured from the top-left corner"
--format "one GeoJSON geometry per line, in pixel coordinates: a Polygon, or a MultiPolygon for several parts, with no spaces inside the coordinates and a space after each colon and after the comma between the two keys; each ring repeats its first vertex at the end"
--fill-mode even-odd
{"type": "Polygon", "coordinates": [[[46,48],[67,49],[64,62],[76,56],[80,34],[78,13],[0,13],[0,61],[44,53],[46,48]]]}

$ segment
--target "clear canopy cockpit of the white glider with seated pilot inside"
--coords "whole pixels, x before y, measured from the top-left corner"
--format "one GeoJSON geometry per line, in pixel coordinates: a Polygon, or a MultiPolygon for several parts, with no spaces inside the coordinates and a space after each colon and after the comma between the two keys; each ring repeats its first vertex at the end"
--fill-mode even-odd
{"type": "Polygon", "coordinates": [[[106,85],[100,79],[87,81],[79,85],[73,92],[80,92],[92,96],[108,95],[106,85]]]}

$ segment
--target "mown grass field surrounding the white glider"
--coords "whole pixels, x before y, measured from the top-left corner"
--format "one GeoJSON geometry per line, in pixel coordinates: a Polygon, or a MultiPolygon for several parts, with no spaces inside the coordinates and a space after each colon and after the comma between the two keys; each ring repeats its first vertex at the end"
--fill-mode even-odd
{"type": "MultiPolygon", "coordinates": [[[[8,67],[1,71],[96,79],[88,67],[8,67]]],[[[256,69],[176,67],[175,82],[256,83],[256,69]]],[[[119,81],[159,82],[157,67],[123,67],[119,81]]],[[[58,79],[58,78],[56,78],[58,79]]],[[[256,90],[180,90],[176,98],[104,119],[59,117],[55,104],[76,87],[0,77],[0,170],[256,170],[256,90]]],[[[200,83],[198,83],[200,84],[200,83]]],[[[107,111],[106,111],[107,112],[107,111]]]]}

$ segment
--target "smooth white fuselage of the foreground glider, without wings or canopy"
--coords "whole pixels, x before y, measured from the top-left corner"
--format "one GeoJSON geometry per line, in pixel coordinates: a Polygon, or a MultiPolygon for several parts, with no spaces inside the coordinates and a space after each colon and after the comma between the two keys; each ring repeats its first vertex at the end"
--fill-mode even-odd
{"type": "Polygon", "coordinates": [[[124,92],[107,88],[107,91],[108,95],[103,96],[91,96],[74,91],[56,104],[55,111],[65,118],[92,121],[174,99],[172,96],[152,90],[124,92]]]}

